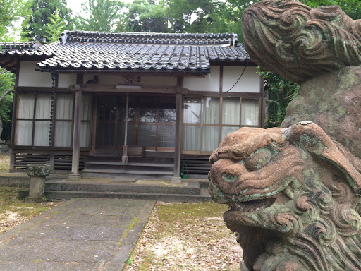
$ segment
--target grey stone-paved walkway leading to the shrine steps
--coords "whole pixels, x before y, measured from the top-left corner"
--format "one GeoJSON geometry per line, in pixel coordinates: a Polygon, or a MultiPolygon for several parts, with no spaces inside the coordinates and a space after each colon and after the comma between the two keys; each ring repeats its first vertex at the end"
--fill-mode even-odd
{"type": "Polygon", "coordinates": [[[68,200],[0,234],[0,270],[120,271],[154,203],[68,200]]]}

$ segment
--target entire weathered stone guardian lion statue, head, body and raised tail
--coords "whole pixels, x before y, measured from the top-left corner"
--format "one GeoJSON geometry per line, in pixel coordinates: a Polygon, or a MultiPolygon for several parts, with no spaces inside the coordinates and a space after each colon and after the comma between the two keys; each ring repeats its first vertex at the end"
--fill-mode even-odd
{"type": "Polygon", "coordinates": [[[264,0],[242,26],[252,61],[301,85],[283,128],[240,128],[210,157],[241,270],[361,270],[361,20],[264,0]]]}

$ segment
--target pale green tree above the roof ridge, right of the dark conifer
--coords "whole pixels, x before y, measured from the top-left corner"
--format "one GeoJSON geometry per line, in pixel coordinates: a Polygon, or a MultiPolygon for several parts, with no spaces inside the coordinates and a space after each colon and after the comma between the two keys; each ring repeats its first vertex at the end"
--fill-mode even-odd
{"type": "Polygon", "coordinates": [[[116,0],[88,0],[82,4],[87,17],[75,16],[75,27],[85,31],[111,31],[116,28],[123,9],[123,2],[116,0]]]}

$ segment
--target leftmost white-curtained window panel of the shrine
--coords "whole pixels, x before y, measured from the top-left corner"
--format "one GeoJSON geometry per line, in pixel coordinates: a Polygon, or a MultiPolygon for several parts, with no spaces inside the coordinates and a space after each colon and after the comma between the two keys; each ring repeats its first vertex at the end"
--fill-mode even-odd
{"type": "MultiPolygon", "coordinates": [[[[34,116],[34,93],[18,96],[18,119],[32,119],[34,116]]],[[[32,121],[16,121],[16,145],[30,146],[32,143],[32,121]]]]}

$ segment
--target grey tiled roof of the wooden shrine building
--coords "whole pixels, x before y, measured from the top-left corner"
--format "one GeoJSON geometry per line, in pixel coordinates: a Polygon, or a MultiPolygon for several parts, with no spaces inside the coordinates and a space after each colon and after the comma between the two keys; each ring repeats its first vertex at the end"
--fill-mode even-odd
{"type": "MultiPolygon", "coordinates": [[[[212,61],[248,61],[233,34],[162,34],[68,30],[38,49],[3,50],[1,56],[43,59],[39,68],[114,71],[209,71],[212,61]],[[89,42],[88,42],[89,40],[89,42]],[[192,44],[189,44],[192,42],[192,44]]],[[[4,67],[6,68],[6,67],[4,67]]]]}

